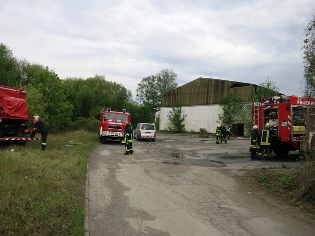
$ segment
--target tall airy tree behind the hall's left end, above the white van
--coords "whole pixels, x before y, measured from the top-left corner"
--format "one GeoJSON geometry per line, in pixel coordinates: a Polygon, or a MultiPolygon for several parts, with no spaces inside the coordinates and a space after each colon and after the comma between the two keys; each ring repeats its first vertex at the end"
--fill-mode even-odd
{"type": "Polygon", "coordinates": [[[150,108],[160,108],[162,95],[178,86],[176,78],[177,74],[172,69],[162,69],[156,75],[143,78],[137,84],[137,99],[150,108]]]}

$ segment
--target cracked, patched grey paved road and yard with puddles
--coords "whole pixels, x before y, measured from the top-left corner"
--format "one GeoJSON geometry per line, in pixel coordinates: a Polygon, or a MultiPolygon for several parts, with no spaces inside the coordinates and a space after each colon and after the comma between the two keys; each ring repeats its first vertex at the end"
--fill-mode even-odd
{"type": "Polygon", "coordinates": [[[85,236],[313,236],[315,219],[242,181],[246,170],[297,167],[289,158],[251,161],[247,139],[157,134],[100,144],[87,174],[85,236]]]}

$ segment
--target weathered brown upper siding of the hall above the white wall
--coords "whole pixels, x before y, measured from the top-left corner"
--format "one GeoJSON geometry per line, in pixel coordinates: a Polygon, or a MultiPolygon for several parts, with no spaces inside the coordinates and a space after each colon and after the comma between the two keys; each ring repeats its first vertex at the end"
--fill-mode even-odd
{"type": "Polygon", "coordinates": [[[166,93],[162,97],[162,107],[218,104],[227,92],[250,99],[253,86],[234,81],[198,78],[166,93]]]}

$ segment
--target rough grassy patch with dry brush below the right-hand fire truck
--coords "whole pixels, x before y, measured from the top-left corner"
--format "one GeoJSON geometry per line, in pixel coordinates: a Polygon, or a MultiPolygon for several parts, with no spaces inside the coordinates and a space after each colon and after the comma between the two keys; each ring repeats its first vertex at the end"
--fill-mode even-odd
{"type": "Polygon", "coordinates": [[[249,170],[243,180],[254,191],[315,214],[315,153],[303,157],[300,164],[297,169],[282,165],[281,169],[249,170]]]}

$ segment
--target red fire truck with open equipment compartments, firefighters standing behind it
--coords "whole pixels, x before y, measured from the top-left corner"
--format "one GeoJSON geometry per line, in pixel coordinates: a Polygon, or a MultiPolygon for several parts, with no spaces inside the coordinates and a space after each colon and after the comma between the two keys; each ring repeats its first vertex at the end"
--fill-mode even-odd
{"type": "Polygon", "coordinates": [[[271,150],[285,156],[289,151],[315,144],[315,99],[297,96],[264,97],[253,103],[253,124],[259,131],[271,127],[271,150]]]}

